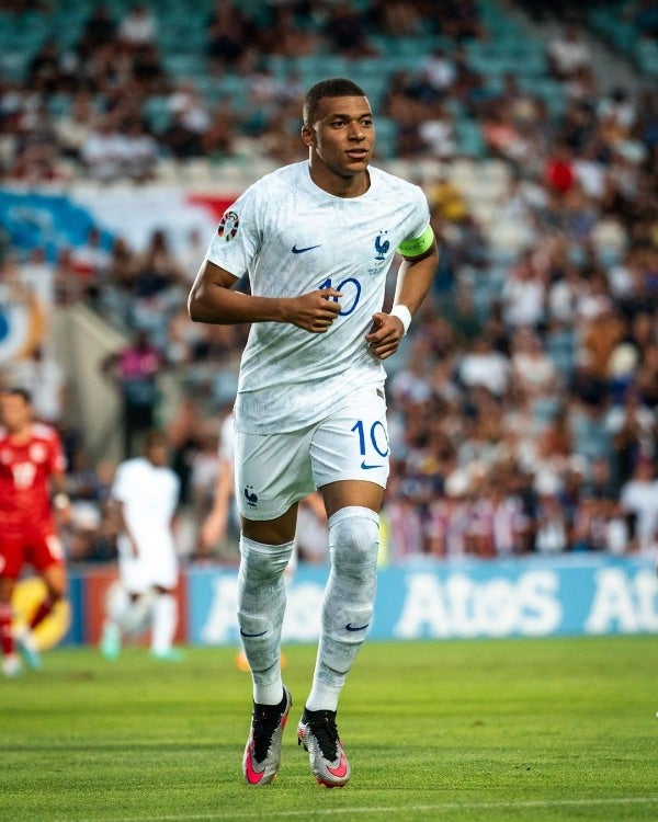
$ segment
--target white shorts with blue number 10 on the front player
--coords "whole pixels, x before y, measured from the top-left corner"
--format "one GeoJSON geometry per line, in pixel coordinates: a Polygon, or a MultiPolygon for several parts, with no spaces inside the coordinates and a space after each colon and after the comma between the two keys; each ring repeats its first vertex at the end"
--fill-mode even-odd
{"type": "Polygon", "coordinates": [[[388,429],[383,389],[355,391],[328,418],[285,434],[236,431],[236,500],[246,520],[276,520],[340,480],[386,488],[388,429]]]}

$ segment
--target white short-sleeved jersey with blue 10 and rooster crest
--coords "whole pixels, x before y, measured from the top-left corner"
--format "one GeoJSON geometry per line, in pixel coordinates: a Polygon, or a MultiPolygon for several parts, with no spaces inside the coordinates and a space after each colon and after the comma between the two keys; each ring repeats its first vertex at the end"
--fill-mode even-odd
{"type": "Polygon", "coordinates": [[[248,274],[253,295],[342,293],[326,333],[252,324],[240,365],[238,430],[306,427],[352,391],[383,385],[384,368],[364,336],[382,310],[397,247],[420,237],[430,215],[419,186],[372,167],[370,180],[360,197],[337,197],[313,182],[307,161],[294,163],[259,180],[225,213],[207,259],[236,277],[248,274]]]}

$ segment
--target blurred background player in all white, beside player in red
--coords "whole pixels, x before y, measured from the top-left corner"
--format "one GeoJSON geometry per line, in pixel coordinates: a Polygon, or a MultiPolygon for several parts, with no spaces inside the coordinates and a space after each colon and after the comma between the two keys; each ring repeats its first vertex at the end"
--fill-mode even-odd
{"type": "Polygon", "coordinates": [[[178,506],[180,480],[167,465],[167,436],[149,431],[144,457],[126,459],[116,469],[111,503],[118,529],[118,573],[127,596],[111,597],[103,626],[101,651],[107,659],[121,653],[124,633],[151,620],[151,654],[179,662],[173,647],[178,624],[174,589],[178,557],[172,521],[178,506]]]}

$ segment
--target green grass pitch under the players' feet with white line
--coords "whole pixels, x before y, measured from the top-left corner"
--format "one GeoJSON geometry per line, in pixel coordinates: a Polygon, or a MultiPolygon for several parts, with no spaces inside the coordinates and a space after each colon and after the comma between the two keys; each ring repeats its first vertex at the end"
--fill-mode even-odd
{"type": "Polygon", "coordinates": [[[182,664],[58,649],[0,680],[0,820],[655,820],[658,637],[366,642],[338,724],[342,790],[295,728],[315,648],[286,648],[277,779],[242,783],[251,710],[235,650],[182,664]]]}

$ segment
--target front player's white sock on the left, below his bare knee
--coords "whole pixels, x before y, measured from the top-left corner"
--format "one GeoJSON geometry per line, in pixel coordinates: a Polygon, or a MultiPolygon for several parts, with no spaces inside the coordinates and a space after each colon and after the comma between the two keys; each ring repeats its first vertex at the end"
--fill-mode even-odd
{"type": "Polygon", "coordinates": [[[263,545],[240,537],[238,623],[253,678],[253,701],[279,705],[281,678],[281,626],[285,614],[283,572],[294,543],[263,545]]]}

